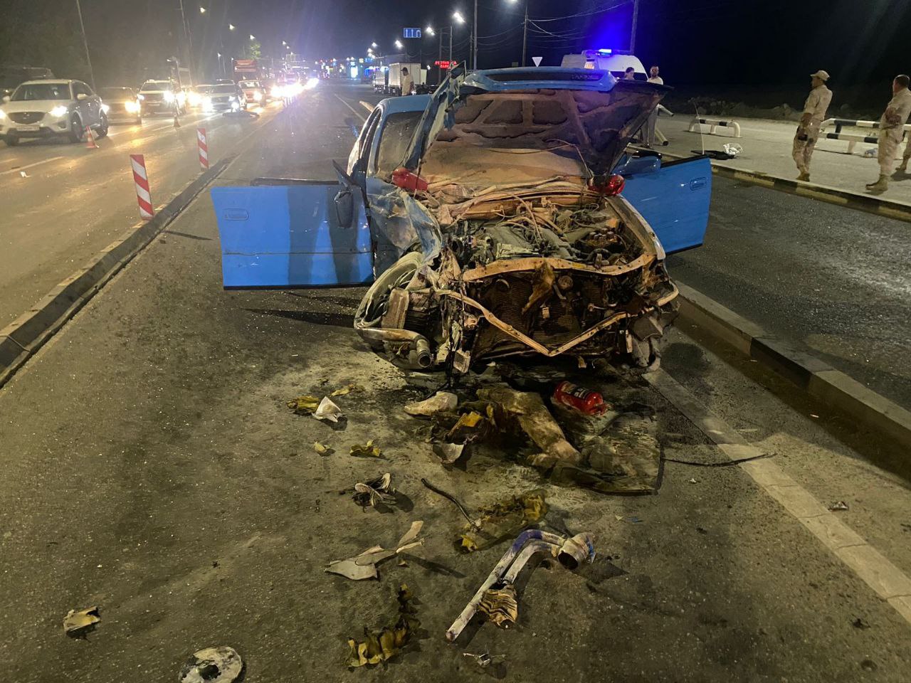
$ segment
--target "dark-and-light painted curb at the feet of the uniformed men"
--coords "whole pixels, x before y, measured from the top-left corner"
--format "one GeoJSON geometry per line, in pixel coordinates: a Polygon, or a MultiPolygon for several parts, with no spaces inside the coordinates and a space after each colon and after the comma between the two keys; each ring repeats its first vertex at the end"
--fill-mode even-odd
{"type": "MultiPolygon", "coordinates": [[[[677,154],[666,152],[661,153],[662,157],[680,159],[685,158],[677,154]]],[[[911,223],[911,204],[895,199],[880,199],[874,195],[861,194],[860,192],[851,192],[846,189],[833,188],[828,185],[818,185],[816,183],[804,182],[803,180],[792,180],[773,176],[762,171],[748,170],[745,168],[731,168],[712,162],[711,172],[714,175],[723,176],[748,182],[752,185],[759,185],[763,188],[777,189],[780,192],[806,197],[809,199],[818,199],[828,204],[865,211],[873,213],[876,216],[884,216],[889,219],[904,220],[911,223]]]]}

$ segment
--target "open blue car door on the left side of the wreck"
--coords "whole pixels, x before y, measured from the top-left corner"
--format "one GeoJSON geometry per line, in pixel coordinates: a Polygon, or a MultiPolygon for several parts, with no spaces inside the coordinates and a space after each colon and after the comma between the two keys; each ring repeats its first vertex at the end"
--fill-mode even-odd
{"type": "Polygon", "coordinates": [[[363,189],[337,182],[260,178],[211,189],[225,289],[363,285],[373,250],[363,189]]]}

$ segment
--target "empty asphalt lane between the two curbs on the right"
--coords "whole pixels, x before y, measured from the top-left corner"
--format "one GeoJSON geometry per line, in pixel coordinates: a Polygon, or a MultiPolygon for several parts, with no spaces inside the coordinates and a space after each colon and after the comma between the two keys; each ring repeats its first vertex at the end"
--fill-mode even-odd
{"type": "Polygon", "coordinates": [[[911,408],[911,226],[712,178],[705,244],[671,276],[911,408]]]}

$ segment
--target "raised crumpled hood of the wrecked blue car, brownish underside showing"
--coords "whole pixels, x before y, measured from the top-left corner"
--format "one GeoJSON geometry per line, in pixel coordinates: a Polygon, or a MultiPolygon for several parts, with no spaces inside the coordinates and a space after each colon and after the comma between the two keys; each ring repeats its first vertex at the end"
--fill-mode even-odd
{"type": "MultiPolygon", "coordinates": [[[[670,88],[591,69],[456,69],[436,90],[404,159],[419,169],[445,154],[549,150],[609,173],[670,88]]],[[[478,159],[480,161],[480,158],[478,159]]],[[[483,163],[483,162],[482,162],[483,163]]]]}

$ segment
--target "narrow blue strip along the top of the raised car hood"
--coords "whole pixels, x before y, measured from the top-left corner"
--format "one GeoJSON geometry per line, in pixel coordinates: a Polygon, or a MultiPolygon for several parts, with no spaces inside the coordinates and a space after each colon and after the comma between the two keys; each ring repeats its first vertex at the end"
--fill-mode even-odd
{"type": "Polygon", "coordinates": [[[536,66],[534,68],[483,69],[469,72],[462,87],[477,87],[488,92],[527,90],[546,87],[555,90],[612,90],[617,79],[608,71],[536,66]]]}

